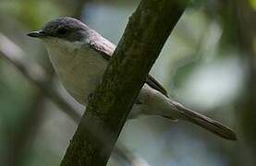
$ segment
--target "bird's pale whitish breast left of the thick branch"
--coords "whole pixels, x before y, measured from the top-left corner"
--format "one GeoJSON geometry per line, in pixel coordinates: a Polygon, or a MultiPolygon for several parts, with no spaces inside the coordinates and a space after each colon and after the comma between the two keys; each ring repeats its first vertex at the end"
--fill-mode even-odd
{"type": "Polygon", "coordinates": [[[101,82],[107,61],[79,42],[46,41],[46,47],[65,89],[77,101],[86,104],[88,96],[101,82]]]}

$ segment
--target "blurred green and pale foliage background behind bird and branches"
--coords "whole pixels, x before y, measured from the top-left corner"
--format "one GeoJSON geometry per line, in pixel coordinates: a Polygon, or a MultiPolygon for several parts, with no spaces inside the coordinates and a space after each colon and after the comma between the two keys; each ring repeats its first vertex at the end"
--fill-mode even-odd
{"type": "MultiPolygon", "coordinates": [[[[80,113],[54,76],[43,42],[30,39],[60,16],[80,18],[117,44],[137,0],[0,0],[0,34],[42,65],[56,89],[80,113]]],[[[118,143],[164,166],[256,165],[256,1],[192,1],[165,43],[152,75],[170,95],[238,133],[231,142],[195,125],[160,117],[129,120],[118,143]]],[[[0,38],[1,44],[2,37],[0,38]]],[[[0,163],[58,165],[76,130],[66,114],[5,59],[0,59],[0,163]]],[[[109,160],[108,165],[120,165],[109,160]]]]}

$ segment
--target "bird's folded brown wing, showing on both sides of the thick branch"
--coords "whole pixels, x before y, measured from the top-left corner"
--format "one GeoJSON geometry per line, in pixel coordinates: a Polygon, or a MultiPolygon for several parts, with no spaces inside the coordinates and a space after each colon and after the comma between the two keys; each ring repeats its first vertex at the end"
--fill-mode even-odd
{"type": "MultiPolygon", "coordinates": [[[[91,49],[100,53],[104,57],[104,59],[110,60],[112,54],[114,53],[114,51],[116,49],[116,46],[112,42],[104,39],[104,37],[102,37],[102,36],[95,36],[95,37],[101,38],[101,39],[100,40],[92,40],[92,42],[90,43],[91,49]],[[95,43],[96,41],[102,41],[102,42],[95,43]]],[[[168,97],[167,91],[165,90],[165,88],[156,79],[154,79],[151,75],[148,75],[146,77],[145,83],[148,84],[152,89],[156,89],[156,90],[160,91],[161,93],[163,93],[166,97],[168,97]]]]}

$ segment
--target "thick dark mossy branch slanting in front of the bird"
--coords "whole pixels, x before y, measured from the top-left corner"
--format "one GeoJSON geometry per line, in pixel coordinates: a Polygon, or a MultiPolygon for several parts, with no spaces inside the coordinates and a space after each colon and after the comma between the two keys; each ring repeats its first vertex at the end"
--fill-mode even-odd
{"type": "Polygon", "coordinates": [[[127,29],[92,96],[61,166],[105,165],[127,120],[145,77],[161,52],[184,4],[170,0],[142,0],[129,18],[127,29]],[[125,95],[124,95],[125,94],[125,95]],[[110,130],[109,148],[95,140],[85,126],[110,130]]]}

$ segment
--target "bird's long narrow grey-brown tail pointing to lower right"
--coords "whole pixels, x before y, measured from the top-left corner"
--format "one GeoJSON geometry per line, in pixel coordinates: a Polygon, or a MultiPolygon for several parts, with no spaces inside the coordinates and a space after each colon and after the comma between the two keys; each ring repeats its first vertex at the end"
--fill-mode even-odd
{"type": "Polygon", "coordinates": [[[214,134],[224,137],[229,140],[237,140],[236,133],[230,129],[229,127],[220,124],[217,121],[214,121],[213,119],[202,115],[201,113],[196,113],[180,103],[176,101],[169,100],[172,106],[174,106],[177,111],[179,112],[180,116],[179,119],[189,121],[193,124],[200,125],[201,127],[205,128],[206,130],[209,130],[213,132],[214,134]]]}

